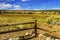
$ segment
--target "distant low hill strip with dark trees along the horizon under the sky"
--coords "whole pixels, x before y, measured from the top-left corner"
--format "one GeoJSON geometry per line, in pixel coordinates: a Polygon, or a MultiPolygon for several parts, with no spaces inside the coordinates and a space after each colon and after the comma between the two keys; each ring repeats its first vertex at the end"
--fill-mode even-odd
{"type": "Polygon", "coordinates": [[[60,10],[0,10],[0,14],[60,14],[60,10]]]}

